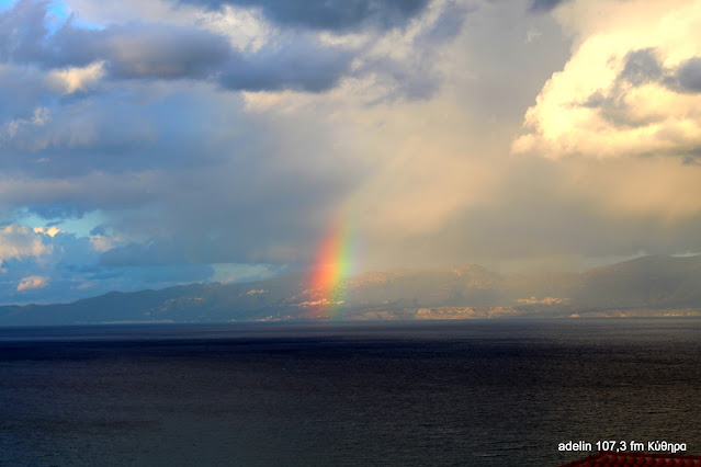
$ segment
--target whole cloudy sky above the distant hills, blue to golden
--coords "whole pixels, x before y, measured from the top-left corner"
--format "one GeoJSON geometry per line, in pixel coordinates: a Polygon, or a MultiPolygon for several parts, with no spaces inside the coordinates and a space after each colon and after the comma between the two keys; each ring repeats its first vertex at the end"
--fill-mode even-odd
{"type": "Polygon", "coordinates": [[[0,304],[329,266],[329,232],[349,272],[699,253],[698,31],[694,0],[0,0],[0,304]]]}

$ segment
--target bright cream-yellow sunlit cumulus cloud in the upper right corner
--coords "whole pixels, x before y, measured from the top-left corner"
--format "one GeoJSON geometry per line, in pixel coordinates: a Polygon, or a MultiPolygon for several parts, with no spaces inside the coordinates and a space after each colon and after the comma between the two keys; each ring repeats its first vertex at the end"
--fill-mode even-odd
{"type": "Polygon", "coordinates": [[[563,10],[564,21],[580,30],[579,45],[528,110],[513,151],[552,159],[694,156],[701,147],[698,4],[600,4],[606,21],[586,13],[584,2],[563,10]]]}

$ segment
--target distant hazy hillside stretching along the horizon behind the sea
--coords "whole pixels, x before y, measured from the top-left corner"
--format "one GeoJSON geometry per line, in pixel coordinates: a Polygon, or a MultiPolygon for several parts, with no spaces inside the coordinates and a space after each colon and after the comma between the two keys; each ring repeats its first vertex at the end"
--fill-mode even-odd
{"type": "Polygon", "coordinates": [[[295,273],[245,284],[112,292],[72,304],[0,307],[0,326],[128,321],[701,316],[701,257],[645,257],[581,274],[501,275],[482,266],[364,273],[333,297],[295,273]]]}

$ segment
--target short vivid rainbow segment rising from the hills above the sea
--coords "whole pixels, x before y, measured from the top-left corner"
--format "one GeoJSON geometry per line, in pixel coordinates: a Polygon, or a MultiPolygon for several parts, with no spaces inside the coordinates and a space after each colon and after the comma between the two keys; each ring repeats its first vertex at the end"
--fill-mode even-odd
{"type": "Polygon", "coordinates": [[[347,217],[340,217],[324,236],[309,274],[315,318],[342,319],[343,281],[357,272],[357,237],[347,217]]]}

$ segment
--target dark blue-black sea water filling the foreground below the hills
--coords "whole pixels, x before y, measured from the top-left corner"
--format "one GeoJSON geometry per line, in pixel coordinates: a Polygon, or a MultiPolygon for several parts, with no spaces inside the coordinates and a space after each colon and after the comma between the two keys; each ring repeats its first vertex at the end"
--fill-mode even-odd
{"type": "Polygon", "coordinates": [[[0,329],[3,466],[554,466],[570,440],[701,454],[701,320],[0,329]]]}

